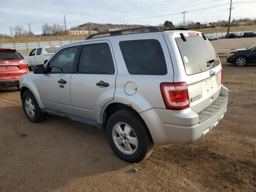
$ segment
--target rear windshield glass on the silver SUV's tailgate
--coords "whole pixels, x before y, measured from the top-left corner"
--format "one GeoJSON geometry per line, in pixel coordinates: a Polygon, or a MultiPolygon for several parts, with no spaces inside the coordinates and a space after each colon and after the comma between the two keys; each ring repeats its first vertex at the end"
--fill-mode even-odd
{"type": "Polygon", "coordinates": [[[187,75],[204,72],[220,64],[210,41],[204,40],[202,36],[186,36],[186,39],[175,38],[187,75]],[[210,60],[215,61],[210,64],[210,60]]]}

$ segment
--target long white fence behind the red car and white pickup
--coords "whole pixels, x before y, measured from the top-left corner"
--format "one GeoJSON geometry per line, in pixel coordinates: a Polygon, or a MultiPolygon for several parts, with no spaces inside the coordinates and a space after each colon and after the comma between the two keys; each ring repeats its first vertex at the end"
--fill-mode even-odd
{"type": "Polygon", "coordinates": [[[42,41],[42,42],[24,42],[24,43],[4,43],[0,44],[0,48],[10,48],[17,51],[32,50],[37,47],[43,46],[63,46],[72,42],[78,42],[81,40],[67,40],[67,41],[42,41]]]}

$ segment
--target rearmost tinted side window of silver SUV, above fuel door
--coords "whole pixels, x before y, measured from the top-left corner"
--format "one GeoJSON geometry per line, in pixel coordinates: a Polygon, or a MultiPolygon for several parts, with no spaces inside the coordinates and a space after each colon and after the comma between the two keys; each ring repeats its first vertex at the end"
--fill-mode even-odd
{"type": "Polygon", "coordinates": [[[119,46],[130,74],[167,74],[164,52],[158,40],[120,41],[119,46]]]}

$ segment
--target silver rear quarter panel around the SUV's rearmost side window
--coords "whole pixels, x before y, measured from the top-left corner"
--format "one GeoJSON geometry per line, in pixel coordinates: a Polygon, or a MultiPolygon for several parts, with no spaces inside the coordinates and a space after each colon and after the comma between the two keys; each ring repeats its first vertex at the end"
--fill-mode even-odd
{"type": "Polygon", "coordinates": [[[136,112],[140,113],[151,108],[166,108],[162,99],[160,84],[162,82],[173,82],[173,68],[172,60],[162,32],[122,35],[109,37],[115,59],[117,63],[118,74],[116,76],[116,91],[114,100],[108,102],[102,109],[102,114],[106,107],[111,103],[122,103],[132,107],[136,112]],[[160,42],[166,60],[167,74],[166,75],[141,75],[130,74],[127,70],[122,52],[120,50],[119,42],[129,40],[146,40],[156,39],[160,42]],[[132,82],[136,86],[136,93],[128,95],[125,92],[125,86],[128,82],[132,82]]]}

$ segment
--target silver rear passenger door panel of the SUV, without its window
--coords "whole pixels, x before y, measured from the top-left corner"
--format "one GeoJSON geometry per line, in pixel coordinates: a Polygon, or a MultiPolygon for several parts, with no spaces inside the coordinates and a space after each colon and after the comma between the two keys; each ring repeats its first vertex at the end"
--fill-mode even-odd
{"type": "Polygon", "coordinates": [[[103,106],[114,98],[117,75],[115,57],[110,41],[94,40],[81,43],[81,51],[83,46],[99,44],[107,44],[109,46],[115,68],[114,74],[86,74],[74,72],[70,84],[72,106],[76,116],[97,120],[97,122],[100,122],[100,113],[103,106]],[[109,86],[97,86],[96,83],[100,81],[108,83],[109,86]]]}

